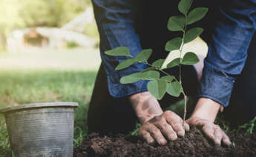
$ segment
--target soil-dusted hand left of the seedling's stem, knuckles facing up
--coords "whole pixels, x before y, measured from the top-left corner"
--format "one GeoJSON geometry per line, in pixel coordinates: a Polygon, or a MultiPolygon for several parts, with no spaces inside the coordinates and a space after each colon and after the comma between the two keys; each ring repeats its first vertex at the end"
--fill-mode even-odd
{"type": "Polygon", "coordinates": [[[185,136],[185,131],[189,130],[189,125],[174,112],[168,110],[160,116],[154,116],[149,121],[145,121],[139,131],[139,136],[144,138],[148,144],[157,141],[160,145],[167,144],[167,140],[174,141],[177,136],[185,136]],[[167,140],[166,140],[167,139],[167,140]]]}

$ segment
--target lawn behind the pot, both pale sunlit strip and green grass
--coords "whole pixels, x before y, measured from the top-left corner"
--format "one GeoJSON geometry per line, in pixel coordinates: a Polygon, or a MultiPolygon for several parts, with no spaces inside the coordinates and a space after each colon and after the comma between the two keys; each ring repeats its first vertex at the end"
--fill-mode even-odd
{"type": "MultiPolygon", "coordinates": [[[[96,70],[97,50],[28,50],[0,53],[0,108],[34,102],[75,101],[77,145],[87,133],[86,117],[96,70]]],[[[0,157],[10,152],[4,116],[0,116],[0,157]]]]}

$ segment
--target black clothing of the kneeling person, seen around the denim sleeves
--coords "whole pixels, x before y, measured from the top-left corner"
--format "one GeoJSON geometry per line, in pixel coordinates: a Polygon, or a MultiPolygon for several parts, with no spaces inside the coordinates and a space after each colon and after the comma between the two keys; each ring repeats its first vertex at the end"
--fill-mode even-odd
{"type": "MultiPolygon", "coordinates": [[[[216,8],[220,1],[198,0],[196,3],[197,2],[198,4],[195,4],[196,6],[209,7],[208,17],[203,19],[201,23],[196,24],[205,29],[201,37],[207,42],[209,40],[209,34],[211,34],[214,28],[214,19],[218,18],[216,8]]],[[[143,5],[145,6],[143,13],[146,16],[143,16],[143,18],[136,23],[136,30],[140,36],[142,47],[152,48],[155,52],[151,56],[151,61],[165,58],[167,53],[163,50],[166,41],[177,36],[177,33],[170,33],[167,29],[163,28],[166,27],[166,21],[169,16],[178,14],[178,1],[168,1],[166,3],[170,4],[148,0],[147,4],[143,5]],[[161,6],[156,6],[156,4],[161,6]],[[157,7],[161,8],[161,10],[152,11],[151,8],[156,10],[157,7]]],[[[234,124],[241,124],[256,116],[256,98],[254,98],[254,96],[256,96],[256,36],[252,39],[248,54],[249,56],[243,68],[243,72],[237,77],[237,81],[234,84],[229,107],[226,107],[224,111],[226,119],[234,124]]],[[[183,85],[186,94],[195,97],[198,81],[194,67],[185,66],[182,71],[183,85]]],[[[177,76],[179,71],[177,68],[173,68],[168,70],[168,73],[177,76]]],[[[160,101],[160,105],[167,107],[181,98],[182,97],[174,98],[166,94],[163,100],[160,101]]],[[[134,110],[131,108],[128,97],[114,98],[109,94],[105,70],[100,66],[88,110],[89,132],[104,134],[128,133],[134,130],[136,122],[137,117],[134,110]]]]}

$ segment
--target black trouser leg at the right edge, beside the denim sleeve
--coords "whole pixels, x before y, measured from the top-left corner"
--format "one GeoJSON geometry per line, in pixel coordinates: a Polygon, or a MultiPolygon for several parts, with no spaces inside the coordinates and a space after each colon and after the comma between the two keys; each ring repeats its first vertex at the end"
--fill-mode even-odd
{"type": "Polygon", "coordinates": [[[256,34],[248,50],[248,58],[232,91],[230,105],[224,115],[233,124],[243,124],[256,116],[256,34]]]}

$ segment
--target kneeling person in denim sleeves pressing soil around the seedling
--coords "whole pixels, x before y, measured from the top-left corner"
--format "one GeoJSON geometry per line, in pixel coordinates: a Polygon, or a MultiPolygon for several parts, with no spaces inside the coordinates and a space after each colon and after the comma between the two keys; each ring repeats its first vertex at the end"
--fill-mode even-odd
{"type": "MultiPolygon", "coordinates": [[[[100,35],[102,65],[88,110],[90,133],[129,133],[140,121],[139,136],[149,144],[166,144],[184,136],[189,125],[203,128],[215,144],[231,144],[214,124],[224,110],[232,123],[256,116],[256,1],[194,1],[192,7],[209,7],[206,18],[192,24],[205,29],[201,38],[209,45],[203,66],[182,66],[186,95],[197,97],[197,104],[183,127],[183,119],[163,109],[182,97],[165,94],[161,101],[147,91],[148,81],[121,84],[119,79],[147,68],[138,63],[125,70],[114,70],[125,57],[106,56],[115,47],[129,47],[132,56],[151,48],[149,62],[165,59],[166,41],[179,36],[166,25],[170,16],[179,15],[179,0],[92,0],[100,35]],[[203,73],[200,73],[203,70],[203,73]],[[199,81],[200,80],[200,81],[199,81]],[[229,105],[230,104],[230,105],[229,105]]],[[[199,64],[200,65],[200,64],[199,64]]],[[[202,65],[202,64],[201,64],[202,65]]],[[[177,67],[167,70],[178,76],[177,67]]]]}

